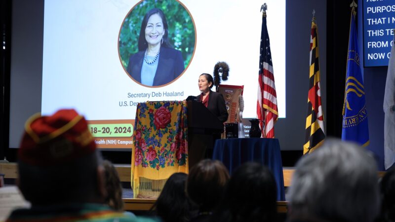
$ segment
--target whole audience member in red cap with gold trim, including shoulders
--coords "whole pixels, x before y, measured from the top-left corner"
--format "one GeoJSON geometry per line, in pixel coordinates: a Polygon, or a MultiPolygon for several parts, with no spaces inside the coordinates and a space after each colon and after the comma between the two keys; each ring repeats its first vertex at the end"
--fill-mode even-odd
{"type": "Polygon", "coordinates": [[[19,188],[32,204],[7,222],[144,222],[111,210],[100,152],[75,110],[32,116],[18,150],[19,188]]]}

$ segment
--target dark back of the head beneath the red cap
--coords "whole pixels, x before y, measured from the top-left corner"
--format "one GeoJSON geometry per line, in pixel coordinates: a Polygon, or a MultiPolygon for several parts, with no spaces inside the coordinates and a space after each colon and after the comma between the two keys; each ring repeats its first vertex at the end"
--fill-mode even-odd
{"type": "MultiPolygon", "coordinates": [[[[56,140],[51,143],[56,144],[56,140]]],[[[19,159],[19,188],[32,206],[90,202],[100,193],[100,162],[99,151],[51,167],[33,166],[19,159]]]]}

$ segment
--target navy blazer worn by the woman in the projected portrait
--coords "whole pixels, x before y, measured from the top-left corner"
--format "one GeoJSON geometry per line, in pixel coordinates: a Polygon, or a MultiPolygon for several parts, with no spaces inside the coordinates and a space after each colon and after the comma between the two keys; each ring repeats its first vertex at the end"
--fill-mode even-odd
{"type": "MultiPolygon", "coordinates": [[[[141,67],[144,61],[144,52],[139,51],[129,58],[127,73],[141,83],[141,67]]],[[[164,85],[176,79],[184,71],[184,60],[181,51],[160,47],[159,62],[155,73],[153,86],[164,85]]]]}

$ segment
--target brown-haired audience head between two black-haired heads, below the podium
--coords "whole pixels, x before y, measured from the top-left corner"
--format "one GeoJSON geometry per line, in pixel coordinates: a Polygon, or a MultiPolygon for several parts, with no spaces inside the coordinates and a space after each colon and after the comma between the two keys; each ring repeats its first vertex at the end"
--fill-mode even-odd
{"type": "Polygon", "coordinates": [[[189,171],[187,194],[201,212],[211,212],[221,199],[228,180],[228,169],[220,161],[201,160],[189,171]]]}

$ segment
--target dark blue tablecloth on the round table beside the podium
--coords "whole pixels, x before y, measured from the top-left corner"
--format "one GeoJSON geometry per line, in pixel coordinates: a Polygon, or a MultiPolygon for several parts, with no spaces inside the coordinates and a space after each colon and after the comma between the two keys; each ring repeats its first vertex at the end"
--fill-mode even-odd
{"type": "Polygon", "coordinates": [[[277,183],[277,200],[285,200],[280,145],[277,139],[240,138],[216,140],[213,159],[220,160],[232,172],[242,163],[258,162],[272,171],[277,183]]]}

